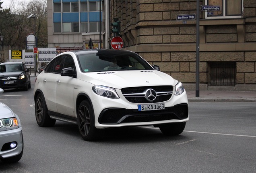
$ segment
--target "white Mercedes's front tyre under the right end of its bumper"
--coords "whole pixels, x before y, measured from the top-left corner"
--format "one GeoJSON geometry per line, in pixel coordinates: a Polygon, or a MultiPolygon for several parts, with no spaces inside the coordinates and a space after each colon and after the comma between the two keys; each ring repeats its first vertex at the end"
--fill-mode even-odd
{"type": "Polygon", "coordinates": [[[159,126],[164,135],[174,136],[180,135],[185,129],[186,123],[168,123],[159,126]]]}

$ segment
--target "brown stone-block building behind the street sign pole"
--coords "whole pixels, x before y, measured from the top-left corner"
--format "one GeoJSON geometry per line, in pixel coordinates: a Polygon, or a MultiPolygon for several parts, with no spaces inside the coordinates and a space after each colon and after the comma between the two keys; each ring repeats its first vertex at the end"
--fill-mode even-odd
{"type": "Polygon", "coordinates": [[[221,10],[200,10],[199,28],[196,20],[177,20],[177,15],[196,14],[196,4],[196,0],[110,0],[109,18],[121,21],[123,49],[159,65],[187,90],[195,89],[198,29],[200,90],[256,91],[256,1],[200,0],[200,5],[221,10]]]}

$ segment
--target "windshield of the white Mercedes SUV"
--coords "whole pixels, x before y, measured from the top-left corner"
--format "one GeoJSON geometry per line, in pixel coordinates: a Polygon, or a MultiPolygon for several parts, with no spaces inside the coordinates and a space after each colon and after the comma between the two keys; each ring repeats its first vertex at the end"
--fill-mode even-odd
{"type": "Polygon", "coordinates": [[[154,70],[145,60],[133,52],[98,52],[78,54],[83,72],[154,70]]]}

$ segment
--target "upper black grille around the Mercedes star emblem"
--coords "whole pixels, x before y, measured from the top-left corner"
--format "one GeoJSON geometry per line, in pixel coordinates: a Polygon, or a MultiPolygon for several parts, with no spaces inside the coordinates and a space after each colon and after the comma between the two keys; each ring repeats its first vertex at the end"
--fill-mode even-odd
{"type": "Polygon", "coordinates": [[[173,86],[147,86],[147,87],[130,87],[123,88],[122,94],[131,103],[159,103],[167,101],[173,93],[173,86]],[[153,89],[156,92],[156,99],[149,101],[146,98],[146,91],[153,89]]]}

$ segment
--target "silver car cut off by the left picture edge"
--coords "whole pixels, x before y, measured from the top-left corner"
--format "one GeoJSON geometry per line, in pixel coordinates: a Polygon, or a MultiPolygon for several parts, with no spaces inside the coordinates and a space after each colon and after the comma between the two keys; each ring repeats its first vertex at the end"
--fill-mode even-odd
{"type": "MultiPolygon", "coordinates": [[[[0,89],[0,94],[3,93],[0,89]]],[[[19,117],[0,102],[0,160],[13,163],[23,155],[23,134],[19,117]]]]}

